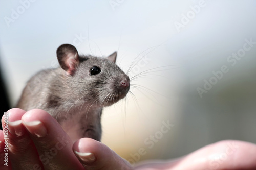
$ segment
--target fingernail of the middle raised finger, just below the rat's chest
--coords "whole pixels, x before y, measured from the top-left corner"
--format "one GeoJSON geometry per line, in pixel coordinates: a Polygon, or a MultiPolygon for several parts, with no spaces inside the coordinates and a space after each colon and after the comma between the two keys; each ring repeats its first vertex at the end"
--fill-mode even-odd
{"type": "Polygon", "coordinates": [[[31,134],[37,137],[45,137],[47,135],[46,127],[41,121],[23,122],[23,125],[31,134]]]}

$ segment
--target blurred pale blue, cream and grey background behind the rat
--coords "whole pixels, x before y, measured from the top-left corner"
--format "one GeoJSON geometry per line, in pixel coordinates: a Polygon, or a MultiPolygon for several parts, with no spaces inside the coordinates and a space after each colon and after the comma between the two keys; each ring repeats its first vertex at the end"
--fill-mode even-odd
{"type": "Polygon", "coordinates": [[[118,51],[117,64],[137,75],[134,95],[104,109],[102,142],[130,163],[225,139],[256,143],[255,5],[0,0],[1,98],[14,107],[35,72],[58,66],[63,43],[95,56],[118,51]]]}

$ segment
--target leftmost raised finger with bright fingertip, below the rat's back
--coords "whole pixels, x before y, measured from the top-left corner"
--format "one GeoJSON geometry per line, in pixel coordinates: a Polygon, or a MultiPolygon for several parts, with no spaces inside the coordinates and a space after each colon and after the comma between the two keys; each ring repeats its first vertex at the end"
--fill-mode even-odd
{"type": "Polygon", "coordinates": [[[5,142],[8,142],[8,155],[13,169],[33,169],[34,164],[42,168],[33,141],[22,125],[21,118],[26,111],[10,109],[2,117],[5,142]],[[8,121],[6,121],[8,120],[8,121]],[[8,129],[8,131],[6,131],[8,129]]]}

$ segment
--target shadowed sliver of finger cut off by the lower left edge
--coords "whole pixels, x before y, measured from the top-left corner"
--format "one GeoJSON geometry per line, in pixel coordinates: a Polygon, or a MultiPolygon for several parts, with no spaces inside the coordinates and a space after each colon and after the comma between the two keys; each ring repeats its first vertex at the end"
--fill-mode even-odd
{"type": "Polygon", "coordinates": [[[5,144],[2,130],[0,130],[0,157],[0,169],[11,170],[11,164],[8,163],[8,145],[5,144]]]}

